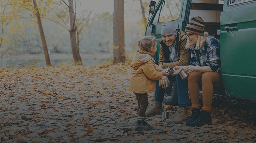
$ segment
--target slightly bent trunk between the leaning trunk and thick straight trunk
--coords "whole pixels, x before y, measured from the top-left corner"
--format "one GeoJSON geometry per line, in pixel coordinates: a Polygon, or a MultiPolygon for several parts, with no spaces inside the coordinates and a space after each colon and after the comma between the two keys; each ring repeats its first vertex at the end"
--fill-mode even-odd
{"type": "Polygon", "coordinates": [[[74,14],[74,6],[73,0],[68,0],[69,3],[69,16],[70,16],[70,42],[73,58],[76,65],[82,65],[82,60],[79,54],[79,47],[77,47],[76,43],[76,25],[75,25],[75,14],[74,14]]]}

